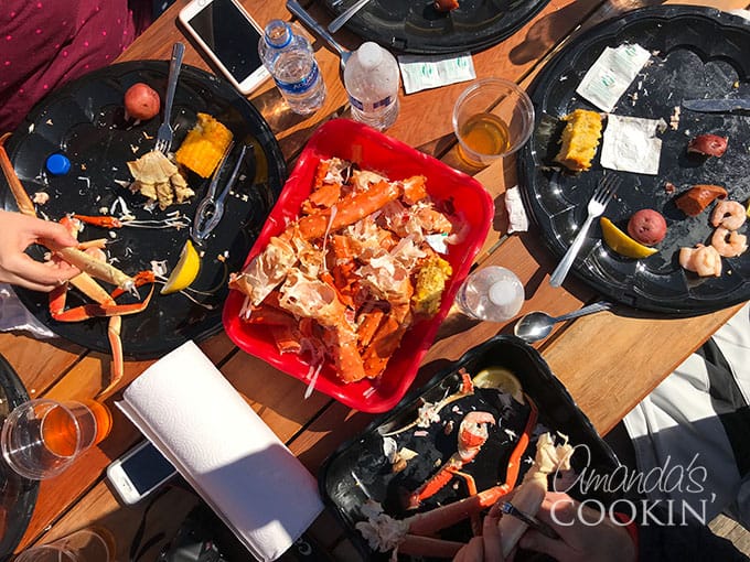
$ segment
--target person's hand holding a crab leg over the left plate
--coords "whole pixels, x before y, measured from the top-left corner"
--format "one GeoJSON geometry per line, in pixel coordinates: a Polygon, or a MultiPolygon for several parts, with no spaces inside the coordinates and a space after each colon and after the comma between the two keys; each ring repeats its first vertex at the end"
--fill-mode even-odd
{"type": "Polygon", "coordinates": [[[42,263],[25,253],[32,244],[51,250],[76,246],[78,242],[63,225],[0,210],[0,281],[49,292],[79,273],[62,260],[42,263]]]}

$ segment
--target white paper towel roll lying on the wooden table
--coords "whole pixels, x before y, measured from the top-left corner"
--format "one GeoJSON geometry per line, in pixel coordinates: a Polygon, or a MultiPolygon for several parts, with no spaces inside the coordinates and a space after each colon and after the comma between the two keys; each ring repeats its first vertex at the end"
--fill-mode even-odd
{"type": "Polygon", "coordinates": [[[314,477],[193,342],[117,406],[258,560],[279,558],[323,509],[314,477]]]}

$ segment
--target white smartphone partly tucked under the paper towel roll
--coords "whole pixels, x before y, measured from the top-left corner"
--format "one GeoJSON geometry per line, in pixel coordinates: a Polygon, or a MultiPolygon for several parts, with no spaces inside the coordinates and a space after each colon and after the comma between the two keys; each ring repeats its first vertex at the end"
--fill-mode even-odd
{"type": "Polygon", "coordinates": [[[107,467],[107,478],[128,505],[137,504],[176,474],[174,466],[149,440],[107,467]]]}

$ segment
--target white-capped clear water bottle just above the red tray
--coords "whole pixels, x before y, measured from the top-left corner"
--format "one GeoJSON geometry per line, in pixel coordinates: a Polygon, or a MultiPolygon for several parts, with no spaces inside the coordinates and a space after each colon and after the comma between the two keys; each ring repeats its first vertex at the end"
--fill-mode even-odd
{"type": "Polygon", "coordinates": [[[383,130],[398,117],[398,63],[377,43],[367,41],[346,61],[344,87],[352,119],[383,130]]]}

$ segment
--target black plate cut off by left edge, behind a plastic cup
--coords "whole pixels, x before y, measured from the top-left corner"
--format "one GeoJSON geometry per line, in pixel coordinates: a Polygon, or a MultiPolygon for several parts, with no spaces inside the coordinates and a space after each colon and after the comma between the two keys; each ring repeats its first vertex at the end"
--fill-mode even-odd
{"type": "MultiPolygon", "coordinates": [[[[0,425],[17,406],[26,400],[29,393],[21,379],[8,360],[0,355],[0,425]]],[[[2,483],[0,502],[6,509],[7,525],[0,533],[0,561],[6,561],[11,558],[23,533],[26,532],[36,506],[39,480],[19,476],[0,455],[0,483],[2,483]]]]}

